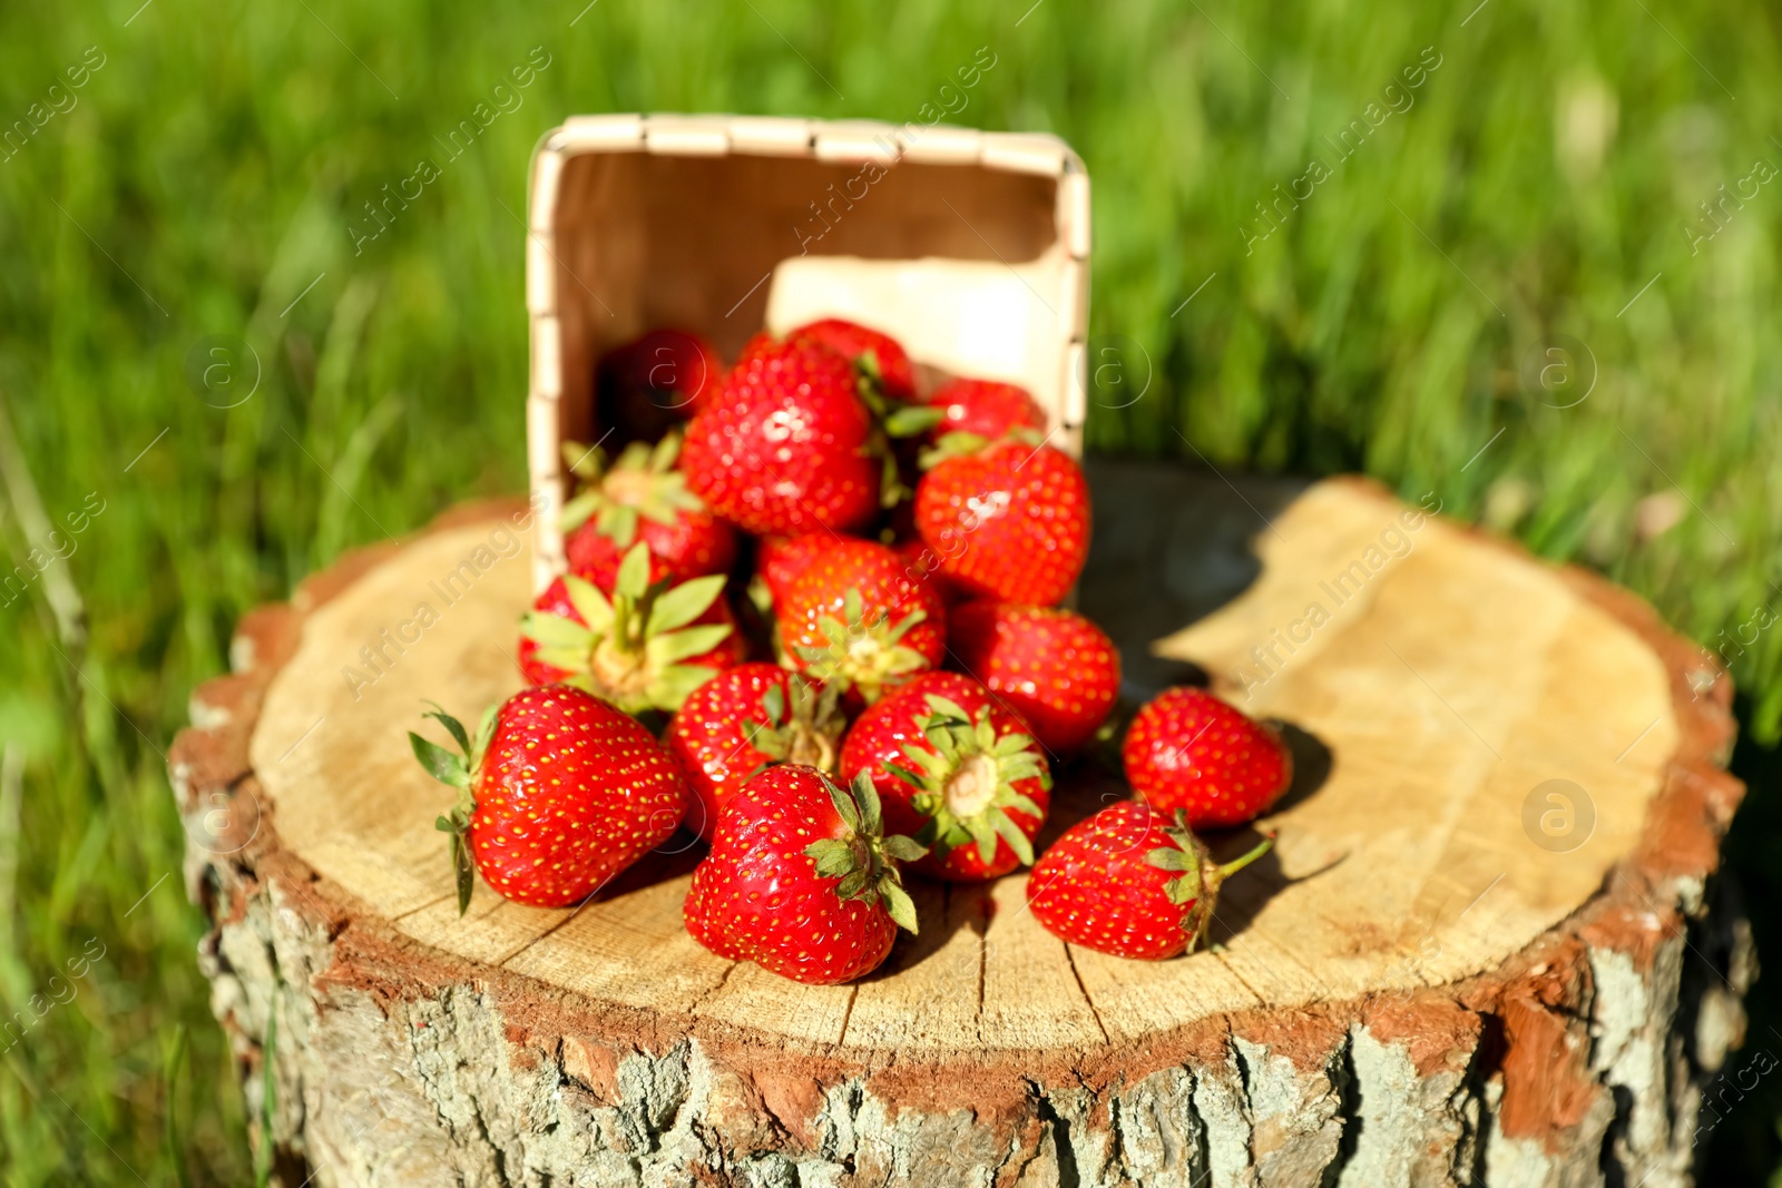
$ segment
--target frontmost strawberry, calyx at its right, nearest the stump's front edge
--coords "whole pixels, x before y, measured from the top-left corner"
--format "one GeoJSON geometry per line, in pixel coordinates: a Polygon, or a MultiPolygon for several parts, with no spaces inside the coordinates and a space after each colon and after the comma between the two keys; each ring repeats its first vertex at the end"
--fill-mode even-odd
{"type": "Polygon", "coordinates": [[[882,835],[871,780],[843,791],[814,768],[768,768],[718,814],[686,930],[793,981],[850,981],[879,967],[900,926],[916,932],[898,862],[918,857],[911,839],[882,835]]]}

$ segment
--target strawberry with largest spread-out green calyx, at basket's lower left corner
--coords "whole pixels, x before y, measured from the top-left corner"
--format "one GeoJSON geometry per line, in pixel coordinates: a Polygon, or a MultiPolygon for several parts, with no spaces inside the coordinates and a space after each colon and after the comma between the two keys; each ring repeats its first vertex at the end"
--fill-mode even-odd
{"type": "Polygon", "coordinates": [[[613,595],[567,574],[520,620],[520,670],[533,684],[568,682],[627,714],[677,709],[745,643],[723,600],[723,574],[668,586],[649,581],[649,547],[631,547],[613,595]]]}

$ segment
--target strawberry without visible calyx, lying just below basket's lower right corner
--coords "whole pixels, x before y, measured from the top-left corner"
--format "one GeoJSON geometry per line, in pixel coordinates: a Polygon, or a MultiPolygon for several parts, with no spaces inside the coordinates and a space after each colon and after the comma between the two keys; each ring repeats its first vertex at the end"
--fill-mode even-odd
{"type": "Polygon", "coordinates": [[[1075,611],[968,602],[946,613],[946,650],[1051,755],[1092,739],[1119,698],[1119,648],[1075,611]]]}

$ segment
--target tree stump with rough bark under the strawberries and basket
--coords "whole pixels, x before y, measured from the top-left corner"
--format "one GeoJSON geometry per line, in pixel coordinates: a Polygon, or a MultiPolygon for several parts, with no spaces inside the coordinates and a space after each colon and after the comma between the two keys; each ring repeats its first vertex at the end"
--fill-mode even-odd
{"type": "MultiPolygon", "coordinates": [[[[1198,664],[1299,768],[1215,949],[1171,962],[1059,942],[1010,876],[918,885],[882,971],[800,987],[686,935],[684,839],[579,908],[479,885],[460,919],[405,732],[520,686],[524,508],[249,614],[171,766],[287,1188],[1689,1183],[1752,976],[1709,882],[1723,675],[1632,595],[1372,484],[1091,477],[1082,602],[1128,693],[1198,664]]],[[[1096,771],[1053,832],[1123,794],[1096,771]]]]}

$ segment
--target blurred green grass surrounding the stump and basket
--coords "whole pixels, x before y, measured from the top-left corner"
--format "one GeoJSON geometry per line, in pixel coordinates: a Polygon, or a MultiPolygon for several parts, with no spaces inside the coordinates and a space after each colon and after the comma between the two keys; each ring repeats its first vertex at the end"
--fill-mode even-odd
{"type": "MultiPolygon", "coordinates": [[[[18,563],[41,520],[73,547],[0,593],[11,1184],[255,1181],[162,752],[244,609],[522,488],[519,212],[570,112],[914,119],[989,46],[953,119],[1082,151],[1094,330],[1151,378],[1103,392],[1096,449],[1365,470],[1597,566],[1736,652],[1737,766],[1775,768],[1773,5],[139,4],[0,7],[0,125],[30,128],[0,148],[0,533],[18,563]],[[535,46],[524,103],[446,164],[435,137],[535,46]],[[1411,107],[1338,160],[1326,137],[1402,105],[1426,46],[1411,107]],[[355,255],[424,157],[442,176],[355,255]],[[1262,239],[1313,157],[1329,176],[1262,239]],[[258,354],[237,408],[184,378],[207,335],[258,354]]],[[[1736,834],[1761,892],[1775,816],[1759,794],[1736,834]]],[[[1768,983],[1753,1008],[1770,1044],[1768,983]]],[[[1770,1177],[1778,1115],[1771,1085],[1734,1110],[1709,1183],[1770,1177]]]]}

